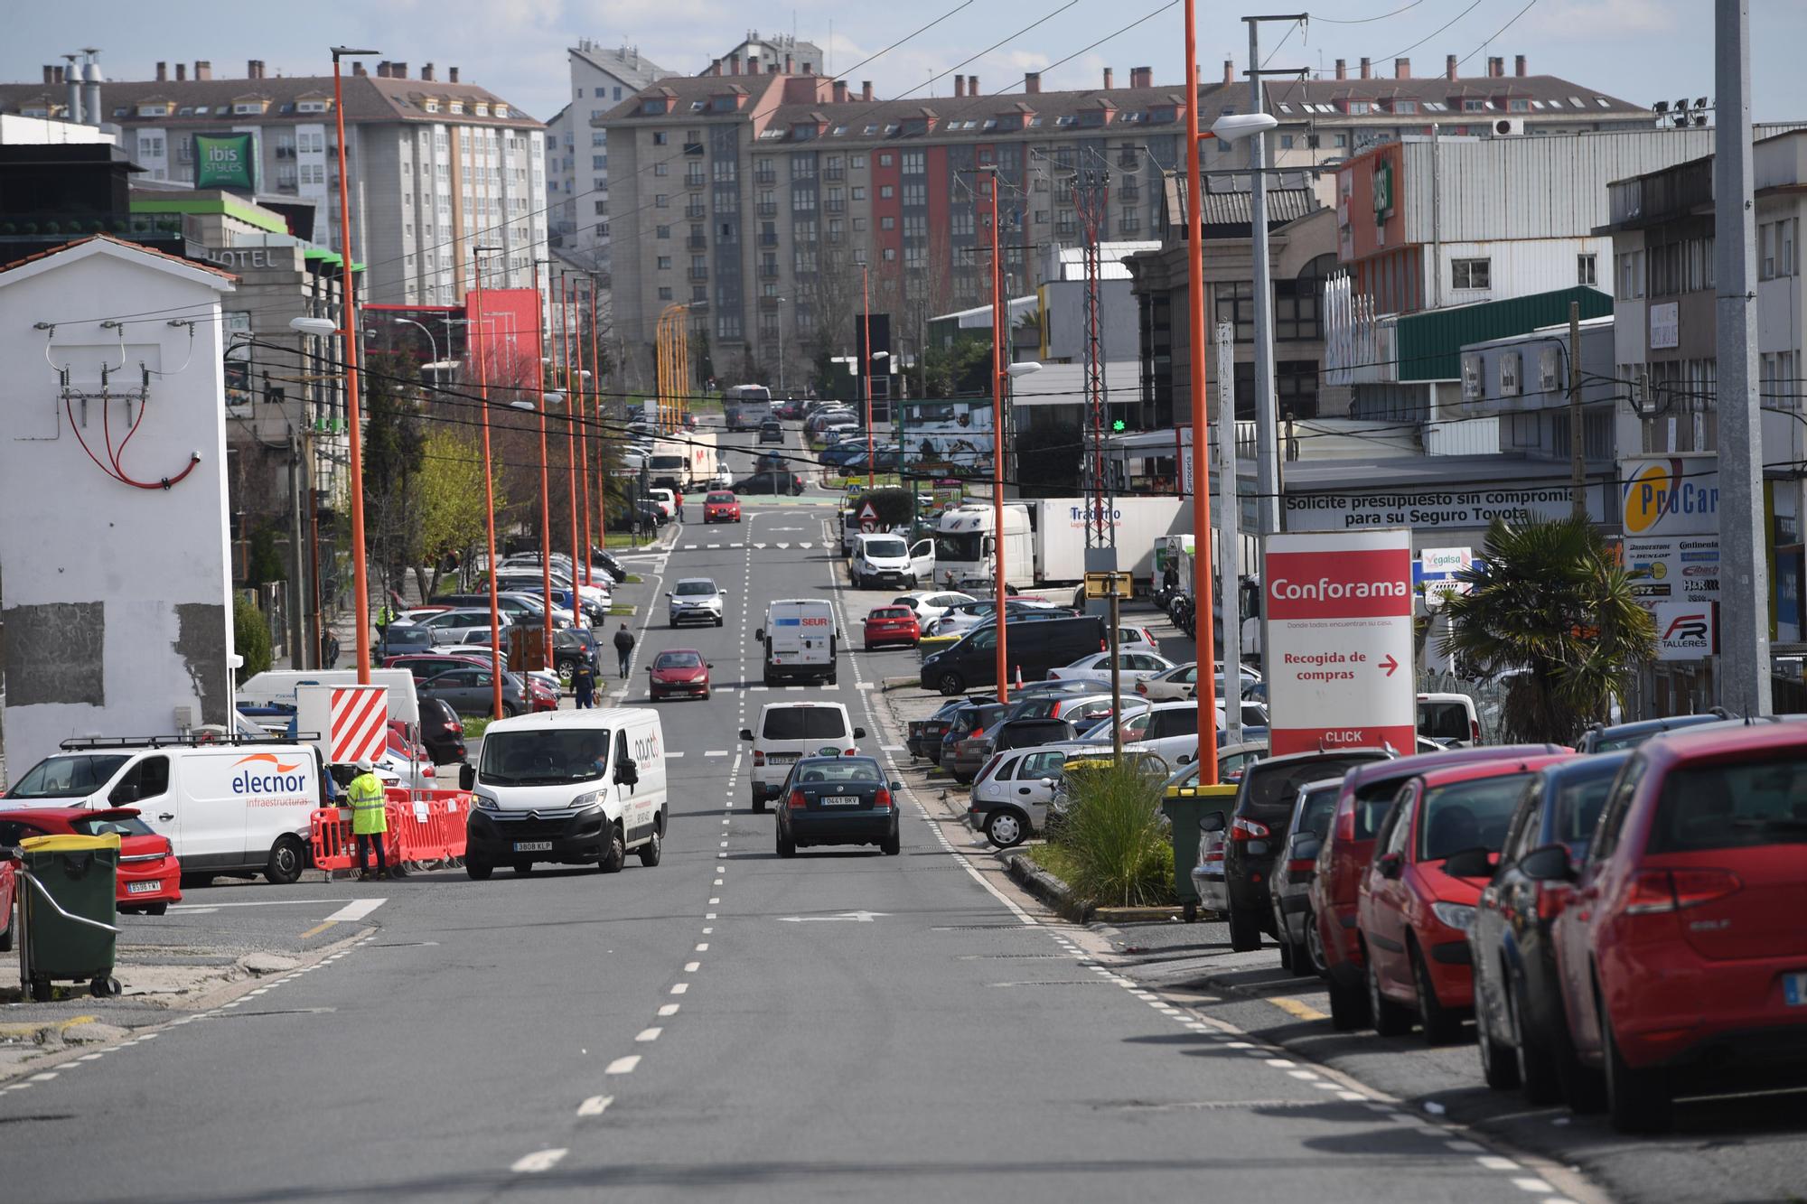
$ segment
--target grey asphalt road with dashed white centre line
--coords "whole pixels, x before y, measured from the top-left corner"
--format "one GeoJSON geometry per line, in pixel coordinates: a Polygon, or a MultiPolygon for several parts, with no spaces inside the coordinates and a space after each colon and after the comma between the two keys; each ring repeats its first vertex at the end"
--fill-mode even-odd
{"type": "Polygon", "coordinates": [[[623,591],[654,618],[627,705],[658,649],[716,665],[660,705],[663,864],[305,884],[383,904],[309,969],[0,1090],[7,1197],[1588,1197],[1142,989],[911,795],[902,857],[779,861],[735,739],[761,705],[840,700],[889,756],[862,653],[838,689],[757,685],[763,602],[838,598],[826,515],[748,499],[623,591]],[[676,577],[725,586],[726,624],[665,629],[676,577]]]}

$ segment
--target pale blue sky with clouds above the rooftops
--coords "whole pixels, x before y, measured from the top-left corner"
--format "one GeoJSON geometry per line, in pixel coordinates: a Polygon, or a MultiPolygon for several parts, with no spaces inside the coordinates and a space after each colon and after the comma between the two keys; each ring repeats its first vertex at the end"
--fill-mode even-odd
{"type": "MultiPolygon", "coordinates": [[[[1241,71],[1245,5],[1200,0],[1198,7],[1203,76],[1220,78],[1227,56],[1241,71]]],[[[1807,4],[1749,0],[1749,7],[1756,119],[1807,119],[1807,74],[1796,61],[1807,45],[1807,4]]],[[[242,78],[248,58],[262,58],[273,76],[325,74],[331,43],[360,43],[379,49],[378,58],[407,61],[416,74],[428,61],[441,72],[457,65],[464,81],[546,119],[569,98],[566,47],[578,38],[638,45],[667,71],[696,74],[748,29],[795,29],[824,47],[826,65],[855,89],[871,80],[882,98],[914,98],[950,96],[956,67],[979,76],[987,92],[1021,90],[1026,71],[1043,71],[1048,90],[1099,87],[1104,67],[1117,69],[1119,85],[1140,65],[1155,69],[1156,83],[1178,81],[1182,13],[1178,0],[925,0],[904,7],[871,0],[33,4],[7,14],[0,78],[34,81],[43,63],[60,63],[61,54],[85,45],[99,45],[103,71],[119,80],[152,78],[157,60],[197,58],[211,60],[215,78],[242,78]],[[98,9],[105,16],[98,18],[98,9]],[[1146,20],[1129,27],[1138,18],[1146,20]]],[[[1269,69],[1328,72],[1346,58],[1353,72],[1368,56],[1379,74],[1406,54],[1413,74],[1431,76],[1442,72],[1446,54],[1456,54],[1473,56],[1464,74],[1485,74],[1489,54],[1505,56],[1507,71],[1514,54],[1525,54],[1532,74],[1561,76],[1634,103],[1713,96],[1713,0],[1326,0],[1303,29],[1267,24],[1261,38],[1269,69]]]]}

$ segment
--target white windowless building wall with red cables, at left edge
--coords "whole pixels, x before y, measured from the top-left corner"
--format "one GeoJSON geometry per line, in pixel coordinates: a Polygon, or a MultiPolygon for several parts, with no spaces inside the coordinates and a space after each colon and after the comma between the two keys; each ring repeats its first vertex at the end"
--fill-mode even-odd
{"type": "Polygon", "coordinates": [[[13,777],[72,736],[231,721],[220,360],[231,291],[226,271],[105,235],[0,271],[13,777]],[[107,322],[145,313],[159,316],[107,322]]]}

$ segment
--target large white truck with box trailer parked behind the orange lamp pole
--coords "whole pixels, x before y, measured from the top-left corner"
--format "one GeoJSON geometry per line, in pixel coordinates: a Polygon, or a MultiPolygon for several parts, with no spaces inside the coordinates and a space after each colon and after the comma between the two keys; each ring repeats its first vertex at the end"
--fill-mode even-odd
{"type": "MultiPolygon", "coordinates": [[[[1005,503],[1005,584],[1050,586],[1086,575],[1086,515],[1082,497],[1039,497],[1005,503]]],[[[1191,510],[1180,497],[1120,497],[1111,508],[1117,568],[1147,580],[1155,571],[1155,541],[1184,531],[1191,510]]],[[[996,564],[994,513],[988,503],[941,512],[934,533],[940,584],[958,588],[990,580],[996,564]],[[952,577],[949,577],[952,575],[952,577]]]]}

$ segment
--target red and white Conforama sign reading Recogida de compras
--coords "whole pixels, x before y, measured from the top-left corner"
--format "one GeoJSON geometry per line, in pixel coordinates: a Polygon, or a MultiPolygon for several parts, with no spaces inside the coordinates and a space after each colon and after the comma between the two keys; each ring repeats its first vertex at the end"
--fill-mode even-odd
{"type": "Polygon", "coordinates": [[[1269,537],[1272,756],[1415,747],[1411,573],[1404,528],[1269,537]]]}

